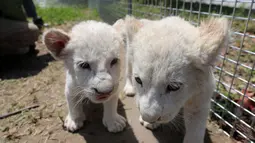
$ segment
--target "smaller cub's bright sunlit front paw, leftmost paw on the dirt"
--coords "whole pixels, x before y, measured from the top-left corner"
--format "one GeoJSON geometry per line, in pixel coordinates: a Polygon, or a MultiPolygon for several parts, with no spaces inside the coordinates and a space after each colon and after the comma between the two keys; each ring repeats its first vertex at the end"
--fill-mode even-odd
{"type": "Polygon", "coordinates": [[[80,129],[82,126],[83,126],[83,121],[79,121],[79,120],[74,121],[73,119],[71,119],[69,115],[65,119],[64,127],[70,132],[74,132],[80,129]]]}

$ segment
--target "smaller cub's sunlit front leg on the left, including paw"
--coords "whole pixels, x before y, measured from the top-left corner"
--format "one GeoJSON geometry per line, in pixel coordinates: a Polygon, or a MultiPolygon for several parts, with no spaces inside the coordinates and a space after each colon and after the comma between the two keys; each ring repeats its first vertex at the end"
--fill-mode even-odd
{"type": "Polygon", "coordinates": [[[80,102],[81,97],[74,97],[74,90],[66,86],[66,100],[68,105],[68,115],[65,119],[64,126],[68,131],[74,132],[83,126],[86,120],[85,114],[83,112],[83,104],[80,102]]]}

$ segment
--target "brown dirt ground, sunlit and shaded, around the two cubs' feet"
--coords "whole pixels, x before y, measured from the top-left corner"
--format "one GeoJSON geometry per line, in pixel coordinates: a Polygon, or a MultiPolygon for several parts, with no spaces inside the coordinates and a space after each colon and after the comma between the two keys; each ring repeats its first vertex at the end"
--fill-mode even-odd
{"type": "MultiPolygon", "coordinates": [[[[70,25],[62,28],[69,29],[70,25]]],[[[120,99],[118,111],[127,118],[128,127],[109,133],[101,123],[102,107],[93,106],[84,128],[69,133],[62,127],[67,114],[64,96],[63,64],[55,61],[39,40],[37,55],[0,58],[0,115],[31,105],[38,108],[0,119],[0,143],[181,143],[182,127],[164,125],[155,131],[142,127],[132,97],[120,99]]],[[[234,143],[218,126],[208,121],[206,143],[234,143]]]]}

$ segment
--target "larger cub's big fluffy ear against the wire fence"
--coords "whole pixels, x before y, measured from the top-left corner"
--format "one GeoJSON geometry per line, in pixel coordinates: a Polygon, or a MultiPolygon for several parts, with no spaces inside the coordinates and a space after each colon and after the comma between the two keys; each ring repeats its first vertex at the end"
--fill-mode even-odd
{"type": "Polygon", "coordinates": [[[199,37],[193,49],[199,51],[200,64],[212,65],[216,61],[219,52],[228,46],[230,39],[228,20],[225,18],[211,18],[202,22],[198,29],[199,37]]]}

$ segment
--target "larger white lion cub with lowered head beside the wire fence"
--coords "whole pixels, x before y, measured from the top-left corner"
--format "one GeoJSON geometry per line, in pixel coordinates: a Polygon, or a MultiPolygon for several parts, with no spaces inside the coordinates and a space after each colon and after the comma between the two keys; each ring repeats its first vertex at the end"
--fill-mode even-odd
{"type": "Polygon", "coordinates": [[[132,90],[147,128],[168,123],[184,109],[184,143],[203,143],[215,88],[213,63],[229,39],[224,18],[194,27],[179,17],[150,24],[127,16],[132,90]]]}

